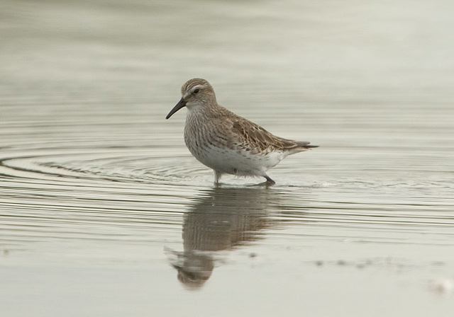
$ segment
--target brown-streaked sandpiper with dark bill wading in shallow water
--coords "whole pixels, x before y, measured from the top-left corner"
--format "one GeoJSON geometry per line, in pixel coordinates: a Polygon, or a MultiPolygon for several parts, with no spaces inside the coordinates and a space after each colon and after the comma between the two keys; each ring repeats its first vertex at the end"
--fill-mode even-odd
{"type": "Polygon", "coordinates": [[[182,86],[182,98],[165,117],[186,107],[184,143],[192,155],[214,171],[218,185],[222,174],[261,176],[275,181],[267,170],[286,156],[317,147],[310,142],[277,137],[254,122],[218,105],[214,89],[205,79],[190,79],[182,86]]]}

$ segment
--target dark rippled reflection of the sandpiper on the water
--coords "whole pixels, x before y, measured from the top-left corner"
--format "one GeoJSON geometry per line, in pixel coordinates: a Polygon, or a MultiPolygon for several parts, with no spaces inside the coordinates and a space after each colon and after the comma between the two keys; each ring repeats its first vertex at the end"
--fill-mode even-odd
{"type": "Polygon", "coordinates": [[[277,193],[268,188],[214,188],[204,190],[184,216],[182,253],[172,252],[178,279],[198,289],[211,277],[212,251],[230,250],[258,238],[270,226],[267,207],[277,193]],[[209,252],[211,251],[211,252],[209,252]]]}

